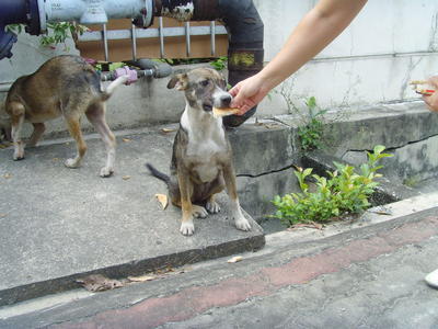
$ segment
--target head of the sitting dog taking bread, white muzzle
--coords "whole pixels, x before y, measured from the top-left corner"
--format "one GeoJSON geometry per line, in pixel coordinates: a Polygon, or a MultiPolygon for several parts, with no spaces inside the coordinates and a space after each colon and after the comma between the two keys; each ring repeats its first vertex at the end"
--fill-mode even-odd
{"type": "Polygon", "coordinates": [[[211,112],[212,107],[229,107],[232,100],[223,77],[210,68],[176,75],[169,81],[168,88],[184,91],[188,105],[205,112],[211,112]]]}

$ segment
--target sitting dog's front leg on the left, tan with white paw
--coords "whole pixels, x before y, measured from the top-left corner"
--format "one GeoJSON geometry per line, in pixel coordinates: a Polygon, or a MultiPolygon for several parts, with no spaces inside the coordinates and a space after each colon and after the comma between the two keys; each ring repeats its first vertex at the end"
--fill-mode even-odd
{"type": "Polygon", "coordinates": [[[181,194],[181,209],[183,211],[180,231],[184,236],[192,236],[195,231],[195,226],[193,224],[193,205],[191,200],[193,190],[192,183],[189,182],[188,173],[183,170],[178,170],[177,178],[181,194]]]}

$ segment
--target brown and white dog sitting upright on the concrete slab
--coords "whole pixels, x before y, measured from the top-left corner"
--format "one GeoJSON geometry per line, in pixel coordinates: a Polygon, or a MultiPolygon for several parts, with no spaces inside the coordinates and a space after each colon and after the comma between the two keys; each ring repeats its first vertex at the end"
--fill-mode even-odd
{"type": "Polygon", "coordinates": [[[227,188],[231,213],[238,229],[251,225],[240,208],[231,146],[222,118],[212,115],[214,107],[228,107],[232,97],[224,79],[214,69],[198,68],[173,77],[168,88],[185,93],[186,106],[173,143],[171,175],[146,166],[151,174],[168,184],[172,203],[183,212],[180,231],[193,235],[194,217],[218,213],[215,195],[227,188]]]}

